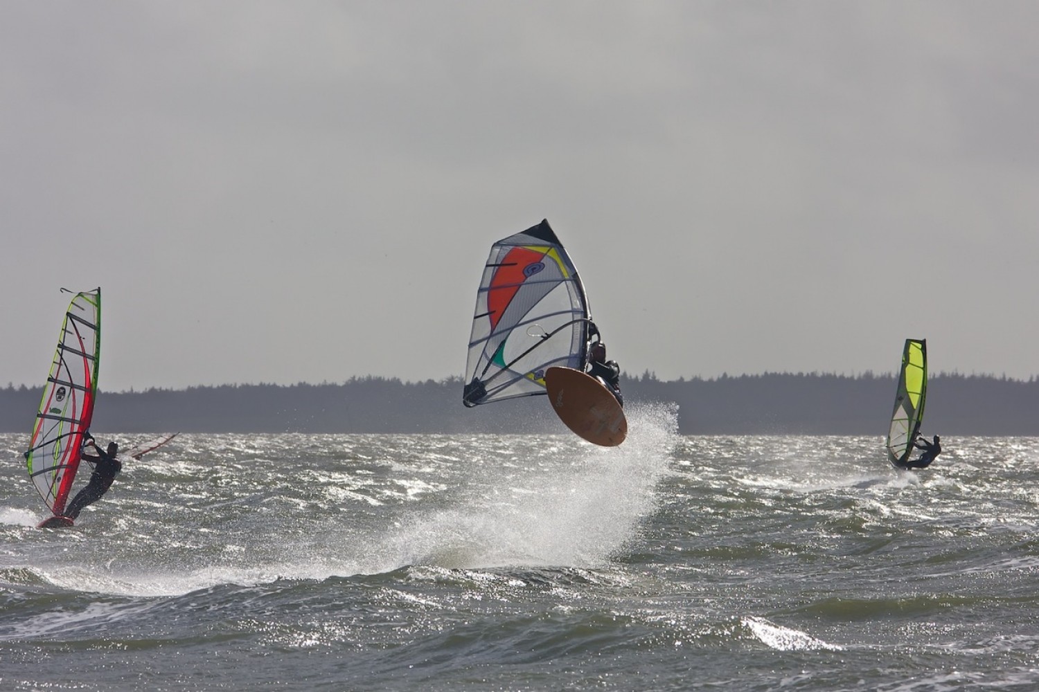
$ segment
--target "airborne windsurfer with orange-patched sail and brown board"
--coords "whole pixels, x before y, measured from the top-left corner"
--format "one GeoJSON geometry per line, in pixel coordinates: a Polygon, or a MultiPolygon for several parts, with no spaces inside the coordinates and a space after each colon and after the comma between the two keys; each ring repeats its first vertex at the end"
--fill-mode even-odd
{"type": "Polygon", "coordinates": [[[605,353],[589,358],[597,336],[577,267],[549,222],[503,238],[490,246],[476,292],[462,404],[548,395],[577,435],[616,446],[628,434],[620,367],[605,353]]]}

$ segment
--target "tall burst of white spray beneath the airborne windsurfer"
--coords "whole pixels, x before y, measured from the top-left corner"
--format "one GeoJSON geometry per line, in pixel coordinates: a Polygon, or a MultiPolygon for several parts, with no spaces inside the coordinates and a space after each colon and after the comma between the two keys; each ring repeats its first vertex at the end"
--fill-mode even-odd
{"type": "MultiPolygon", "coordinates": [[[[378,537],[378,559],[364,573],[409,564],[451,569],[600,565],[636,535],[656,507],[655,488],[676,442],[673,407],[629,411],[630,435],[618,447],[574,443],[540,460],[538,472],[480,477],[508,494],[470,494],[448,506],[419,510],[378,537]],[[511,483],[511,485],[509,485],[511,483]]],[[[532,438],[531,445],[539,444],[532,438]]]]}

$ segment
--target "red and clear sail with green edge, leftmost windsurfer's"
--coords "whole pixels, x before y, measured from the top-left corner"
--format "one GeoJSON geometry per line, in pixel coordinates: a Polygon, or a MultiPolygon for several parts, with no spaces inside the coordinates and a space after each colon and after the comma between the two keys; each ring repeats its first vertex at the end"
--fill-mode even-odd
{"type": "Polygon", "coordinates": [[[69,304],[29,450],[25,452],[29,477],[55,515],[64,510],[79,468],[83,434],[90,427],[100,356],[98,288],[76,294],[69,304]]]}

